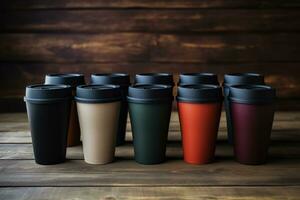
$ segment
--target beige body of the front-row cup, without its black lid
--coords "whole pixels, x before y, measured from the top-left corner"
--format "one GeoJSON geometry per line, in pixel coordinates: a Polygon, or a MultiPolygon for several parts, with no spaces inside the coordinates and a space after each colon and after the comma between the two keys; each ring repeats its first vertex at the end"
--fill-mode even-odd
{"type": "Polygon", "coordinates": [[[77,102],[85,162],[106,164],[114,160],[120,105],[120,101],[77,102]]]}

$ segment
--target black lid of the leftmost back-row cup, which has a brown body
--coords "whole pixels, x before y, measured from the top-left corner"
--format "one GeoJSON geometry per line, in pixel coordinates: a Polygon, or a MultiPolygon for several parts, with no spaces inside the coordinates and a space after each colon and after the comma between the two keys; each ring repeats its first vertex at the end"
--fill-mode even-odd
{"type": "Polygon", "coordinates": [[[84,85],[83,74],[47,74],[45,84],[65,84],[71,87],[84,85]]]}

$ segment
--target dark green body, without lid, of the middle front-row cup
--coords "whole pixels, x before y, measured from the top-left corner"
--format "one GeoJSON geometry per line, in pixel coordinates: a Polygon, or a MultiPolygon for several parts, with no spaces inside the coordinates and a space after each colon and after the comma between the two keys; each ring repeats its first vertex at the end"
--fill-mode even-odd
{"type": "Polygon", "coordinates": [[[157,164],[166,159],[172,102],[129,103],[135,160],[157,164]]]}

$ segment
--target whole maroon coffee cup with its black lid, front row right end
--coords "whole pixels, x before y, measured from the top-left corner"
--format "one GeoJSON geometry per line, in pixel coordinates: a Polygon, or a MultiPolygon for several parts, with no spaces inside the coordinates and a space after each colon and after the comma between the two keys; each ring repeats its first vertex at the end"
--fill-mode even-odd
{"type": "Polygon", "coordinates": [[[266,85],[230,87],[234,153],[238,162],[249,165],[266,162],[275,96],[275,89],[266,85]]]}

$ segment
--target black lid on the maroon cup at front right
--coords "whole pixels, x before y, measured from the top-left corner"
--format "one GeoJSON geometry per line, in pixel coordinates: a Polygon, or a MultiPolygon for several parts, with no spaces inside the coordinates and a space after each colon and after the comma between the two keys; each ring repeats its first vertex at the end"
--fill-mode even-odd
{"type": "Polygon", "coordinates": [[[275,97],[275,89],[267,85],[235,85],[229,88],[229,99],[237,103],[272,103],[275,97]]]}

